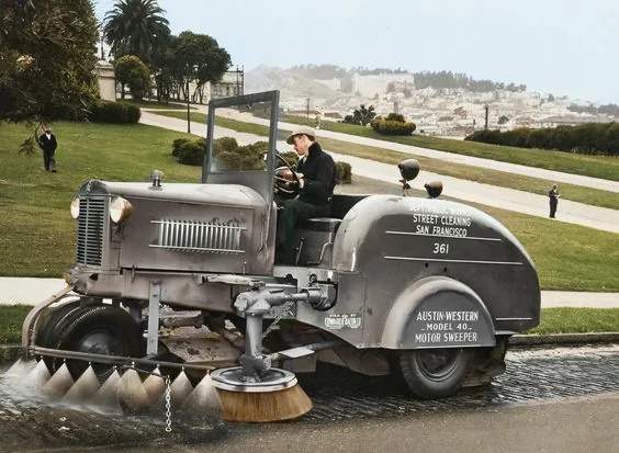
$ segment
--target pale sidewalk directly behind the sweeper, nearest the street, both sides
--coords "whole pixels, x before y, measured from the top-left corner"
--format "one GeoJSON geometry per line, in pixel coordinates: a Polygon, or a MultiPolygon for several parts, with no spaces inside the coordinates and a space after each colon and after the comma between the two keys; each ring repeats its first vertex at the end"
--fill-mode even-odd
{"type": "MultiPolygon", "coordinates": [[[[0,276],[0,305],[35,305],[63,290],[63,279],[0,276]]],[[[619,308],[619,293],[542,291],[542,307],[619,308]]]]}

